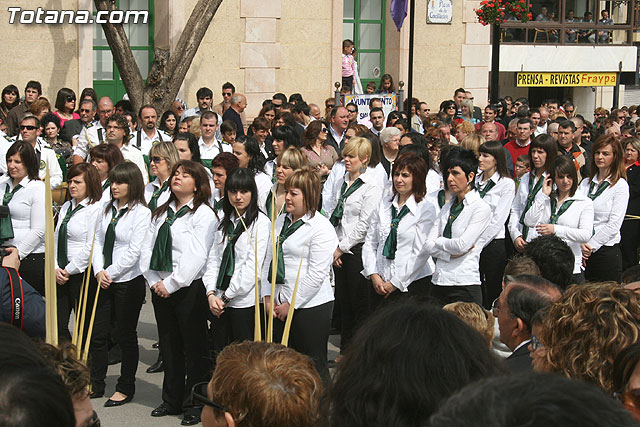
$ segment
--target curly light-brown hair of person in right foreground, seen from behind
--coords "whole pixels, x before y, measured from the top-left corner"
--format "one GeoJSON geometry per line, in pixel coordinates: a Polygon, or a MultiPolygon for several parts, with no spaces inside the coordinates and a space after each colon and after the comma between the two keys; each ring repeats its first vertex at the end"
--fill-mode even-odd
{"type": "Polygon", "coordinates": [[[543,322],[549,366],[613,394],[616,356],[640,340],[640,296],[614,282],[567,289],[543,322]]]}

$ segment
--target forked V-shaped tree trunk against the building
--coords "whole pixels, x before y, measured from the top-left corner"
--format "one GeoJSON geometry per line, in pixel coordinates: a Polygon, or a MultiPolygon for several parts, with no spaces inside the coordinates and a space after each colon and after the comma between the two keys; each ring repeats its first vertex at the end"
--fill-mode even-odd
{"type": "MultiPolygon", "coordinates": [[[[97,10],[117,9],[115,2],[112,3],[111,0],[94,2],[97,10]]],[[[113,60],[136,111],[144,104],[152,104],[159,114],[169,109],[221,3],[222,0],[198,0],[178,39],[175,51],[179,53],[171,56],[168,49],[154,49],[154,59],[146,83],[135,62],[122,24],[102,24],[113,60]]]]}

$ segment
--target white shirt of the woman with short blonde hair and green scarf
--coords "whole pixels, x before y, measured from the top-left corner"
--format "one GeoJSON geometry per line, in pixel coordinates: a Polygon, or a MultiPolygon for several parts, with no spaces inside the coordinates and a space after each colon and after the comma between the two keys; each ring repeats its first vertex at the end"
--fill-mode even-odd
{"type": "MultiPolygon", "coordinates": [[[[364,238],[369,230],[371,217],[378,208],[380,199],[382,198],[383,188],[380,186],[372,169],[367,168],[365,173],[361,174],[358,178],[362,180],[364,184],[345,199],[342,219],[336,227],[338,239],[340,239],[338,247],[345,253],[351,253],[352,247],[364,242],[364,238]]],[[[342,181],[338,181],[335,184],[336,202],[340,199],[340,190],[345,182],[348,185],[348,172],[344,174],[342,181]]],[[[345,192],[348,190],[349,187],[345,189],[345,192]]],[[[329,214],[328,217],[331,217],[331,214],[329,214]]]]}

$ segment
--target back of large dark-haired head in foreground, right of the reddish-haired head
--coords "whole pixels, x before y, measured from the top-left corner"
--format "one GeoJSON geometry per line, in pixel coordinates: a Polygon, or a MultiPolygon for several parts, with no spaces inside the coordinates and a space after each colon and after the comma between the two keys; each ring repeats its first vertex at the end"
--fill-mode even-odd
{"type": "Polygon", "coordinates": [[[329,392],[333,427],[426,425],[449,396],[505,372],[475,329],[413,299],[374,314],[352,344],[329,392]]]}

